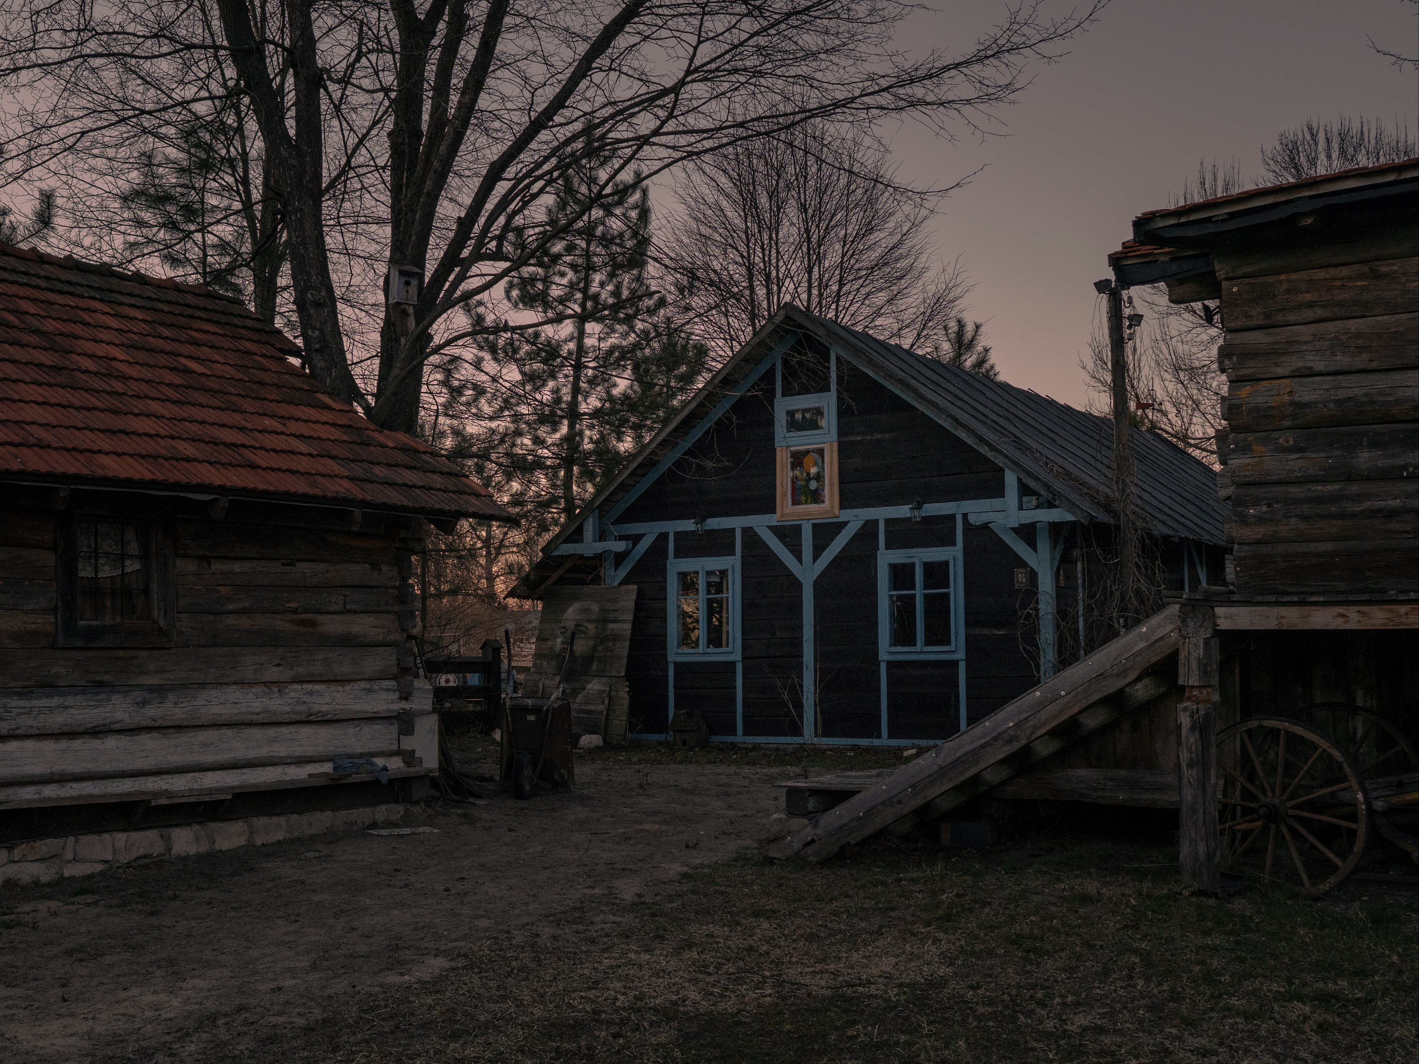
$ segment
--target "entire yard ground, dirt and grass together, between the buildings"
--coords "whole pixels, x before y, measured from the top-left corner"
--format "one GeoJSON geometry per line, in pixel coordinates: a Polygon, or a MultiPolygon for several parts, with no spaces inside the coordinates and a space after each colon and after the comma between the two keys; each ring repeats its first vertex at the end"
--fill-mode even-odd
{"type": "Polygon", "coordinates": [[[1412,884],[1198,898],[1165,813],[1067,803],[756,851],[779,780],[900,759],[607,749],[433,833],[0,891],[0,1064],[1419,1061],[1412,884]]]}

